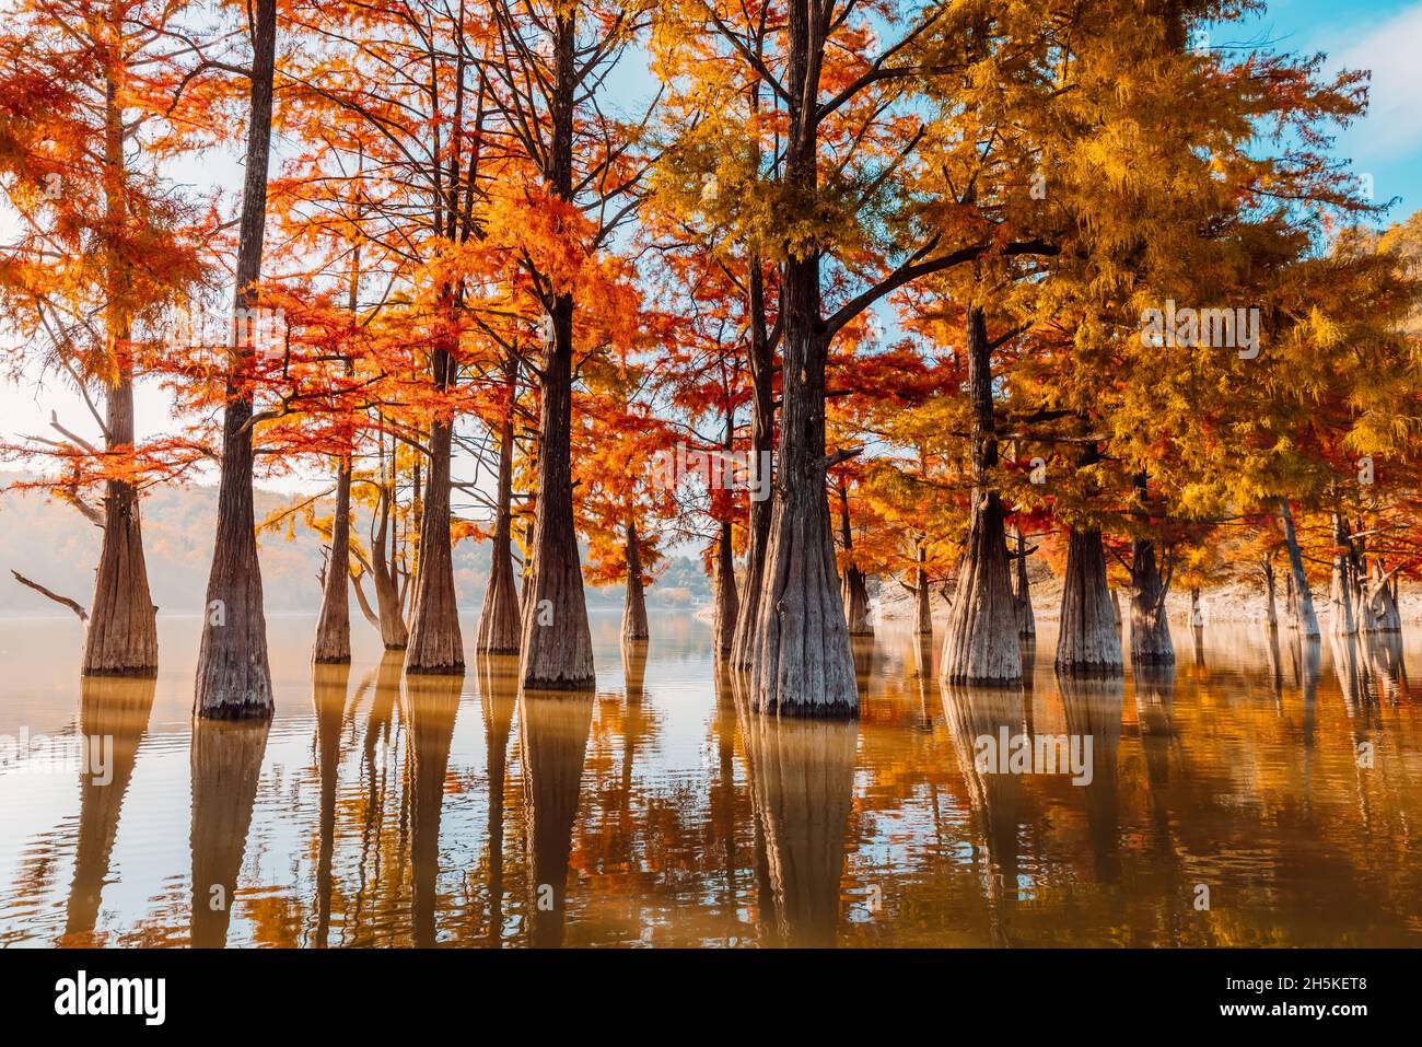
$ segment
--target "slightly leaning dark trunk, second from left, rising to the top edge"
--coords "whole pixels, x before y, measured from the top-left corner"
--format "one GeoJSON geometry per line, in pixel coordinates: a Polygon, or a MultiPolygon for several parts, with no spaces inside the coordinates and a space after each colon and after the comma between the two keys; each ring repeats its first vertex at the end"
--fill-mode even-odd
{"type": "MultiPolygon", "coordinates": [[[[253,11],[252,104],[233,303],[237,317],[259,303],[267,159],[272,149],[276,0],[253,0],[253,11]]],[[[273,713],[266,615],[262,609],[262,565],[257,560],[252,515],[252,388],[245,373],[252,366],[253,349],[235,346],[232,353],[235,360],[228,371],[228,408],[222,420],[216,543],[208,578],[208,606],[193,696],[193,713],[213,720],[269,718],[273,713]]]]}

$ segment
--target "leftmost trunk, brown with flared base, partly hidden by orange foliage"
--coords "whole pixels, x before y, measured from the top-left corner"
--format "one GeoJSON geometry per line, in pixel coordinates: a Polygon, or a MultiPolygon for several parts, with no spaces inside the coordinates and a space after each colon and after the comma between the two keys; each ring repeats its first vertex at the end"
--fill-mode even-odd
{"type": "MultiPolygon", "coordinates": [[[[122,20],[118,4],[112,18],[122,20]]],[[[121,26],[114,26],[119,30],[121,26]]],[[[124,112],[118,84],[105,83],[104,102],[104,209],[109,236],[127,223],[127,174],[124,169],[124,112]]],[[[134,452],[134,364],[127,279],[118,245],[107,252],[108,303],[104,450],[119,461],[134,452]]],[[[94,575],[94,600],[84,636],[84,676],[155,676],[158,673],[158,622],[148,589],[144,533],[138,492],[132,484],[109,479],[104,494],[104,543],[94,575]]]]}

